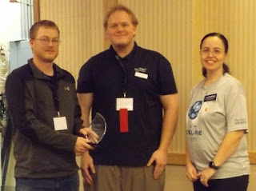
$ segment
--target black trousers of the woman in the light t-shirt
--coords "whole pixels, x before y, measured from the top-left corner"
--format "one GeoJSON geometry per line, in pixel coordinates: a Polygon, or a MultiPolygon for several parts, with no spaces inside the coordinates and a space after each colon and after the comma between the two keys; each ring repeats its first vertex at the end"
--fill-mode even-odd
{"type": "Polygon", "coordinates": [[[200,179],[193,183],[194,191],[246,191],[249,183],[249,175],[230,177],[225,179],[213,179],[208,181],[209,187],[202,185],[200,179]]]}

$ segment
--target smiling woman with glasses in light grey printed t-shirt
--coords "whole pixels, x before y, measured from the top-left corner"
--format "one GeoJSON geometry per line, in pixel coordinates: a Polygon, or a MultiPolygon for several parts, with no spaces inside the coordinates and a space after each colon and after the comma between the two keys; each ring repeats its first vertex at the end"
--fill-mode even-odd
{"type": "Polygon", "coordinates": [[[202,82],[190,92],[186,116],[186,175],[194,191],[246,191],[250,162],[243,86],[224,63],[228,42],[222,34],[202,38],[202,82]]]}

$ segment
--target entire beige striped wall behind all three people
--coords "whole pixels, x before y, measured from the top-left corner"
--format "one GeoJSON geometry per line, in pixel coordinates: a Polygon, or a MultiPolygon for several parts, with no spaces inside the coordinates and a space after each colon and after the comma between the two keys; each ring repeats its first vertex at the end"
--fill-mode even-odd
{"type": "MultiPolygon", "coordinates": [[[[251,161],[256,162],[256,129],[254,129],[256,117],[253,116],[256,113],[256,101],[254,101],[256,1],[37,0],[37,2],[40,2],[40,18],[54,20],[61,30],[62,44],[56,62],[62,68],[69,70],[74,78],[78,78],[78,70],[88,58],[106,47],[102,20],[109,4],[122,2],[134,10],[139,21],[136,36],[138,45],[157,50],[166,56],[173,66],[180,98],[180,117],[170,153],[181,153],[178,157],[181,156],[182,159],[184,159],[182,154],[185,153],[187,101],[191,87],[202,79],[198,57],[200,40],[203,35],[213,31],[226,35],[230,42],[227,64],[230,65],[234,77],[238,78],[246,88],[250,125],[250,133],[247,135],[248,149],[254,157],[251,157],[251,161]]],[[[177,161],[181,160],[178,158],[177,161]]],[[[170,159],[171,163],[175,161],[170,159]]],[[[251,177],[254,179],[255,171],[252,165],[251,177]]],[[[167,179],[170,181],[167,180],[166,186],[173,190],[190,190],[188,189],[190,183],[188,184],[184,174],[184,166],[168,166],[167,179]],[[180,181],[184,184],[178,184],[180,181]],[[179,186],[185,187],[178,189],[179,186]]],[[[250,181],[250,190],[253,188],[253,182],[250,181]]]]}

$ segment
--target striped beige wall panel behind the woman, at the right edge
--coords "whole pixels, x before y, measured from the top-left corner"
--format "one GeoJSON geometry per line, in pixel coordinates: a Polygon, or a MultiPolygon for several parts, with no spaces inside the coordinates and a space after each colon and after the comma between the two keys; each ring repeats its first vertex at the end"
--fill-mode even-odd
{"type": "Polygon", "coordinates": [[[202,6],[202,31],[219,32],[229,41],[231,74],[242,82],[246,90],[250,132],[247,135],[248,150],[256,151],[256,1],[254,0],[200,0],[202,6]]]}

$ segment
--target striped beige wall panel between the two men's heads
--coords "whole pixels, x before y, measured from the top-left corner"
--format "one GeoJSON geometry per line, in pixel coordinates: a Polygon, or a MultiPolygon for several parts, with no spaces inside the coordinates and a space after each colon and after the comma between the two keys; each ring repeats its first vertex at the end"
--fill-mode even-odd
{"type": "Polygon", "coordinates": [[[78,71],[91,56],[104,50],[102,0],[41,0],[40,19],[50,19],[61,30],[56,63],[78,78],[78,71]]]}

